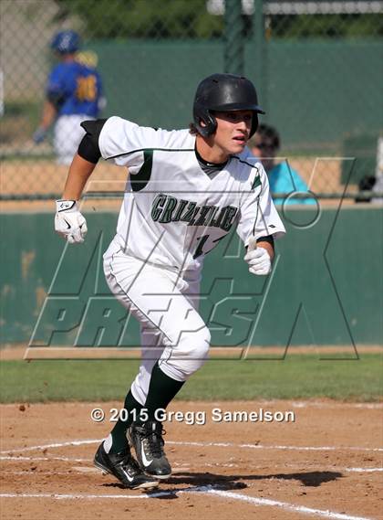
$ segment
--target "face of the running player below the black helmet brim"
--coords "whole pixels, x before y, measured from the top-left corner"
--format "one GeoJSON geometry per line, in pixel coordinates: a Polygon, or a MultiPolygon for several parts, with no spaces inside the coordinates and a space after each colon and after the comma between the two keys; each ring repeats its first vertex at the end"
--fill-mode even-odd
{"type": "Polygon", "coordinates": [[[240,154],[250,136],[253,111],[216,111],[214,116],[217,120],[214,145],[223,154],[240,154]]]}

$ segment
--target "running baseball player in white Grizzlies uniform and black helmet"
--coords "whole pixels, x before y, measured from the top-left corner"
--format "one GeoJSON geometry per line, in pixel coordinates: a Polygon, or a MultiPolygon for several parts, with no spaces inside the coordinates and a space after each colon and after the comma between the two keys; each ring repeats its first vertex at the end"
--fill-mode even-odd
{"type": "Polygon", "coordinates": [[[258,113],[250,80],[213,74],[197,89],[190,129],[144,128],[119,117],[82,123],[87,133],[57,201],[57,232],[70,243],[84,240],[77,201],[99,157],[130,174],[104,271],[110,291],[140,322],[142,357],[126,414],[94,461],[127,488],[154,487],[171,475],[157,412],[208,356],[210,332],[198,312],[204,256],[236,228],[249,271],[267,275],[274,239],[285,233],[264,168],[246,148],[258,113]]]}

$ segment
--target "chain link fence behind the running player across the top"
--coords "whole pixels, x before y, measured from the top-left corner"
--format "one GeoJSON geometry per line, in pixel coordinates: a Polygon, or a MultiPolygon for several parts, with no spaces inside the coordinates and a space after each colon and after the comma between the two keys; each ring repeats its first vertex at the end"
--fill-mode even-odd
{"type": "MultiPolygon", "coordinates": [[[[259,90],[262,122],[280,134],[278,160],[313,192],[339,196],[351,170],[351,194],[383,176],[383,2],[2,0],[0,9],[3,200],[62,191],[55,123],[36,130],[57,63],[50,44],[63,30],[81,37],[75,58],[101,77],[98,117],[184,128],[203,77],[243,73],[259,90]]],[[[110,192],[124,177],[101,161],[93,179],[110,192]]]]}

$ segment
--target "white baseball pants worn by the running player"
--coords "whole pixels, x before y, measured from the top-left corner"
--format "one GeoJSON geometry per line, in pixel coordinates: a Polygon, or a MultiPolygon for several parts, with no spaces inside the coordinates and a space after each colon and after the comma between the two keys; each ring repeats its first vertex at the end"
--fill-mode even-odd
{"type": "Polygon", "coordinates": [[[133,258],[112,241],[104,254],[110,291],[140,322],[140,371],[131,386],[145,404],[156,361],[177,381],[185,381],[205,362],[211,334],[198,313],[200,273],[179,272],[133,258]]]}

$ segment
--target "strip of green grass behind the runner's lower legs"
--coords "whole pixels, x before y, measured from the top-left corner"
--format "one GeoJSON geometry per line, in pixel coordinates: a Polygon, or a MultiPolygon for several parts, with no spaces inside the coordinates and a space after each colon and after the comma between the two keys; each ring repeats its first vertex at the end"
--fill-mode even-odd
{"type": "MultiPolygon", "coordinates": [[[[138,361],[4,361],[1,402],[106,401],[125,397],[138,361]]],[[[182,388],[185,400],[336,398],[376,401],[382,397],[382,356],[320,360],[292,355],[285,360],[206,363],[182,388]]]]}

